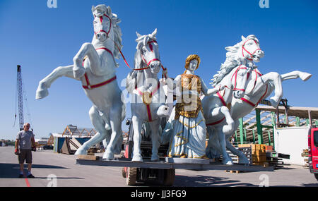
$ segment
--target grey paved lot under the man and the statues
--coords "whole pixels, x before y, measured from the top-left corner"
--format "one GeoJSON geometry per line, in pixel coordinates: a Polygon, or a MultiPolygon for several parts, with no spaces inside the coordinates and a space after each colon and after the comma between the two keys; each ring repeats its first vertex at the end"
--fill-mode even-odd
{"type": "MultiPolygon", "coordinates": [[[[57,154],[52,150],[33,152],[33,170],[36,178],[18,178],[18,159],[13,147],[0,147],[0,187],[45,187],[56,182],[58,187],[126,187],[122,168],[76,165],[76,156],[57,154]],[[48,176],[56,179],[48,179],[48,176]]],[[[26,166],[25,166],[26,173],[26,166]]],[[[317,186],[318,181],[301,166],[287,166],[272,172],[229,173],[225,171],[176,170],[176,187],[209,186],[317,186]]],[[[160,186],[139,184],[139,186],[160,186]]]]}

